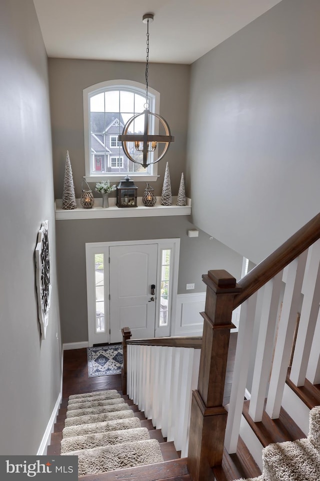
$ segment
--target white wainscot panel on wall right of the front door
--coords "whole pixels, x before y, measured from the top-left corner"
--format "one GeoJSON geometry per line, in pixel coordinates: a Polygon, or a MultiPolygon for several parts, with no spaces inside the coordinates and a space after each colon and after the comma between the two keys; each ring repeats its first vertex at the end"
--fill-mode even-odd
{"type": "Polygon", "coordinates": [[[202,336],[204,304],[205,292],[178,294],[172,336],[202,336]]]}

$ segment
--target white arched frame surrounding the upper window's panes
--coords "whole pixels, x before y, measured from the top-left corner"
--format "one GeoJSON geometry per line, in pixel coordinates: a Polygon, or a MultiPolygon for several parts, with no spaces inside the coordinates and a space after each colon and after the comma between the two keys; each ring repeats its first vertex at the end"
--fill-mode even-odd
{"type": "MultiPolygon", "coordinates": [[[[126,90],[139,95],[145,95],[145,85],[131,80],[106,80],[95,85],[91,85],[83,90],[83,131],[84,131],[84,160],[85,160],[85,180],[87,182],[100,182],[111,178],[111,181],[123,180],[123,173],[103,172],[94,174],[90,172],[90,98],[106,90],[126,90]]],[[[160,93],[148,87],[150,110],[156,114],[160,112],[160,93]]],[[[159,132],[159,122],[155,118],[154,134],[159,132]]],[[[154,155],[157,155],[157,150],[154,155]]],[[[157,180],[157,163],[150,165],[150,173],[130,172],[132,180],[154,182],[157,180]]]]}

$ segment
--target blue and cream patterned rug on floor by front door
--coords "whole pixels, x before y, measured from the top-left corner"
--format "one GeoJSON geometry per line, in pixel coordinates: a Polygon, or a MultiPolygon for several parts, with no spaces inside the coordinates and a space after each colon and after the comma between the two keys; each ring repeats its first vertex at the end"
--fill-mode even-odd
{"type": "Polygon", "coordinates": [[[87,356],[89,377],[121,373],[123,362],[121,344],[88,347],[87,356]]]}

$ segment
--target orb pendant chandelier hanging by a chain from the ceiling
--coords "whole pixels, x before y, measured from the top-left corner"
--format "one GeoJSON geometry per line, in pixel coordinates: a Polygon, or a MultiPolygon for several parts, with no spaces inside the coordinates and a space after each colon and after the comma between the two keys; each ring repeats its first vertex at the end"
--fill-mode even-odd
{"type": "Polygon", "coordinates": [[[142,165],[146,168],[150,164],[155,164],[166,154],[170,142],[174,142],[174,137],[172,137],[170,128],[167,122],[158,114],[150,112],[149,110],[149,100],[148,100],[148,63],[149,63],[149,22],[153,22],[153,14],[145,14],[142,17],[142,22],[147,25],[146,28],[146,65],[145,65],[145,104],[144,111],[131,117],[123,127],[122,134],[118,136],[118,140],[122,142],[122,149],[129,160],[136,164],[142,165]],[[143,116],[143,133],[128,133],[130,132],[130,127],[134,128],[134,121],[143,116]],[[153,117],[153,118],[152,118],[153,117]],[[165,135],[151,135],[149,133],[150,125],[154,124],[154,119],[158,119],[159,124],[162,125],[165,135]],[[132,143],[132,147],[128,146],[128,143],[132,143]],[[163,150],[156,160],[150,159],[150,152],[154,152],[157,144],[161,143],[163,145],[163,150]],[[130,150],[130,152],[129,152],[130,150]],[[140,152],[137,157],[134,154],[140,152]],[[142,161],[141,161],[142,160],[142,161]]]}

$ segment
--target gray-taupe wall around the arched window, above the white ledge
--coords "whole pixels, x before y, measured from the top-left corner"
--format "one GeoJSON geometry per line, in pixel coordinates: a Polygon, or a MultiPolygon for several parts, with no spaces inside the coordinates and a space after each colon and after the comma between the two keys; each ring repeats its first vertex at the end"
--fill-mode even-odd
{"type": "MultiPolygon", "coordinates": [[[[49,85],[53,145],[54,195],[62,197],[65,153],[69,150],[75,196],[80,197],[84,175],[83,89],[98,82],[125,79],[144,84],[144,64],[95,60],[49,59],[49,85]]],[[[169,162],[172,194],[177,195],[185,166],[189,95],[188,65],[150,64],[149,86],[160,92],[160,115],[168,122],[175,141],[165,161],[169,162]]],[[[152,182],[160,195],[165,161],[158,163],[160,178],[152,182]]],[[[141,196],[145,182],[135,182],[141,196]]],[[[94,190],[94,183],[90,187],[94,190]]],[[[186,186],[186,190],[187,190],[186,186]]],[[[187,192],[188,193],[188,192],[187,192]]],[[[96,194],[99,197],[98,194],[96,194]]]]}

